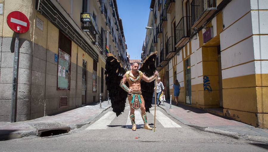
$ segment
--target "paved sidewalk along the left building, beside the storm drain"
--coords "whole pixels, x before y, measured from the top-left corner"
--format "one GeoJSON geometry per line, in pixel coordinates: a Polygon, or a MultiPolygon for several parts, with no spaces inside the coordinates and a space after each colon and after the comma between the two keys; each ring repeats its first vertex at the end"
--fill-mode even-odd
{"type": "Polygon", "coordinates": [[[60,114],[40,117],[23,122],[0,122],[0,140],[9,140],[30,135],[37,135],[38,129],[68,128],[68,130],[80,128],[90,123],[94,118],[111,107],[108,101],[82,106],[60,114]]]}

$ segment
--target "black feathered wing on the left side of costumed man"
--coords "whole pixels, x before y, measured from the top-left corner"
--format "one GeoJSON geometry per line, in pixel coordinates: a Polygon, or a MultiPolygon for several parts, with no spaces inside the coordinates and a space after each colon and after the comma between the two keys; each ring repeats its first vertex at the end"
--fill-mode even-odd
{"type": "Polygon", "coordinates": [[[108,53],[105,65],[105,81],[113,112],[116,113],[116,116],[122,114],[121,112],[124,112],[125,109],[127,92],[120,87],[121,79],[123,79],[125,73],[126,70],[122,67],[118,59],[113,54],[108,53]]]}

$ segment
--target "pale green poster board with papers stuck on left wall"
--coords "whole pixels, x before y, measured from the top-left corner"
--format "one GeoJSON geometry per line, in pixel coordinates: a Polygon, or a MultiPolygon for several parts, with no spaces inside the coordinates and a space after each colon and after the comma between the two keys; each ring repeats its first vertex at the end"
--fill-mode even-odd
{"type": "Polygon", "coordinates": [[[58,88],[69,89],[70,55],[59,49],[58,55],[58,88]]]}

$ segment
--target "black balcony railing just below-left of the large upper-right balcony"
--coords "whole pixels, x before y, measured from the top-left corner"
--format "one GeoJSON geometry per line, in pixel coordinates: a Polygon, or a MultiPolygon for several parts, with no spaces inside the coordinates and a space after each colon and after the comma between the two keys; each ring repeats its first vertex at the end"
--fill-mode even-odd
{"type": "Polygon", "coordinates": [[[184,16],[176,26],[175,47],[181,48],[191,37],[191,16],[184,16]]]}

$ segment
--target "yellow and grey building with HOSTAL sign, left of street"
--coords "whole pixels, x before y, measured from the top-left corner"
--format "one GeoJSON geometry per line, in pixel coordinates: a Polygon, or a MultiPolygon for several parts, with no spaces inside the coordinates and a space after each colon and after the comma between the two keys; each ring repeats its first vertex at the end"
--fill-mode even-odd
{"type": "MultiPolygon", "coordinates": [[[[15,121],[107,98],[106,46],[126,66],[127,45],[116,0],[0,0],[0,121],[10,121],[15,34],[7,15],[24,13],[19,35],[15,121]],[[15,4],[15,5],[14,5],[15,4]]],[[[16,81],[15,81],[16,82],[16,81]]]]}

